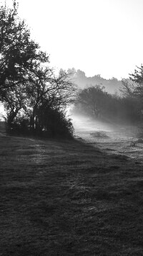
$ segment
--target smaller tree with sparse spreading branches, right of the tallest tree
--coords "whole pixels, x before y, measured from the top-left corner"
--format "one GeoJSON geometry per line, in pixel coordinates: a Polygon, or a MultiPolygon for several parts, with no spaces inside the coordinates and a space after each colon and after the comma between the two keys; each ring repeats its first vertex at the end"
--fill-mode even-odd
{"type": "Polygon", "coordinates": [[[31,128],[39,129],[39,109],[44,109],[44,114],[45,109],[64,113],[66,107],[74,101],[76,87],[63,70],[60,70],[59,76],[54,76],[49,68],[41,68],[34,75],[26,88],[26,111],[29,110],[31,128]]]}

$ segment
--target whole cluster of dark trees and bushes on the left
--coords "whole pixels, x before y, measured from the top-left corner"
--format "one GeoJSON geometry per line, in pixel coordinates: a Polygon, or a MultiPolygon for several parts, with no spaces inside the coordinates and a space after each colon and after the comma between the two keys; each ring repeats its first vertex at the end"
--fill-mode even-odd
{"type": "Polygon", "coordinates": [[[46,137],[71,137],[73,127],[65,109],[76,87],[68,73],[55,76],[49,55],[31,40],[13,1],[0,9],[0,100],[8,131],[46,137]]]}

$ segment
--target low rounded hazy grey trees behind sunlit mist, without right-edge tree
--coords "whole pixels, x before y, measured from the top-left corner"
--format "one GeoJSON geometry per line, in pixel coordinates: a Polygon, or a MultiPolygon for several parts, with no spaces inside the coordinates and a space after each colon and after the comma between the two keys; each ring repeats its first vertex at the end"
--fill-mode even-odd
{"type": "Polygon", "coordinates": [[[75,108],[76,111],[80,109],[89,116],[115,122],[134,122],[142,119],[136,98],[109,94],[101,86],[91,86],[79,91],[75,108]]]}

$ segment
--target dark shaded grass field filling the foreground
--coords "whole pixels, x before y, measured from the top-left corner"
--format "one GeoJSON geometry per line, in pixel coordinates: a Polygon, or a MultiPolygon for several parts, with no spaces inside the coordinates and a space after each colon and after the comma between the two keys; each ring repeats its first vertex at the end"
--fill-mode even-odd
{"type": "Polygon", "coordinates": [[[80,141],[0,136],[0,255],[143,255],[143,166],[80,141]]]}

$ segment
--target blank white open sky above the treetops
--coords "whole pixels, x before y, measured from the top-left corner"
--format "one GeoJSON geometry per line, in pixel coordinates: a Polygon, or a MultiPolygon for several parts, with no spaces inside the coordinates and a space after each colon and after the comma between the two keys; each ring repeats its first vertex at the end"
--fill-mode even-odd
{"type": "Polygon", "coordinates": [[[54,67],[121,79],[143,63],[143,0],[18,1],[54,67]]]}

